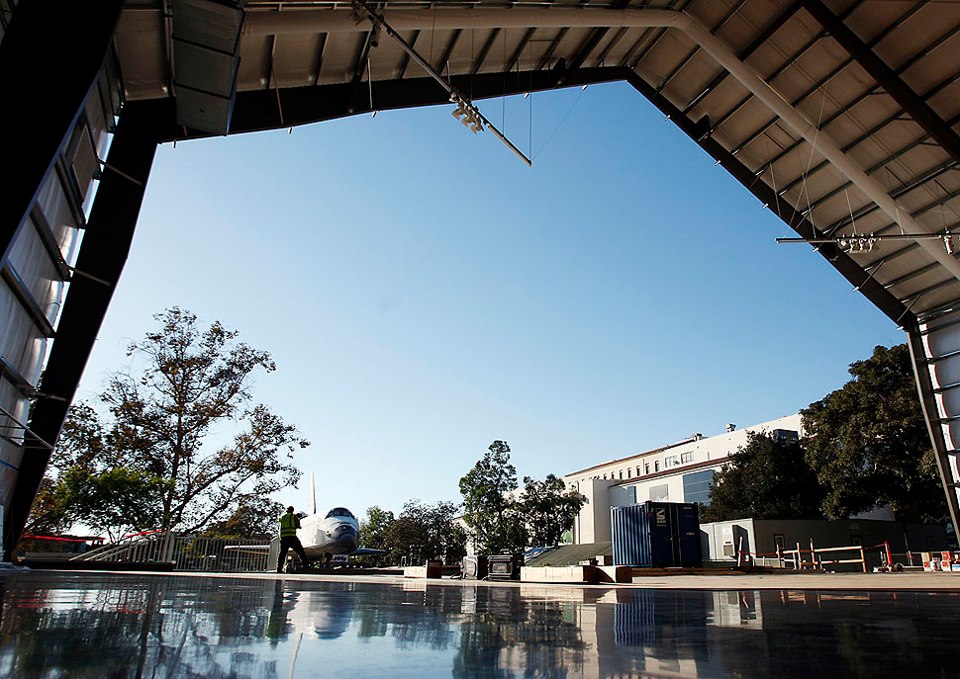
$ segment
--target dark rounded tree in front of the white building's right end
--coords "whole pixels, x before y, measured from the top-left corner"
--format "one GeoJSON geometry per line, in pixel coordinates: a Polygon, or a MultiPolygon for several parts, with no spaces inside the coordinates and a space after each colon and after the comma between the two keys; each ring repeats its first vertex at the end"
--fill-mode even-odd
{"type": "Polygon", "coordinates": [[[713,477],[705,521],[822,518],[823,489],[800,443],[749,432],[713,477]]]}

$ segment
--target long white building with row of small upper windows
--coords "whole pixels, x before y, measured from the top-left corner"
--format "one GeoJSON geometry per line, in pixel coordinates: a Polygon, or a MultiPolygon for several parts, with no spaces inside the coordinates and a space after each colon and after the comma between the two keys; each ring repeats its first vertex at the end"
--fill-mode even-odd
{"type": "Polygon", "coordinates": [[[800,414],[743,429],[728,424],[727,431],[716,436],[693,434],[678,443],[566,474],[567,487],[588,500],[574,523],[574,543],[609,541],[611,507],[647,500],[709,502],[714,473],[746,445],[750,432],[796,439],[803,433],[800,414]]]}

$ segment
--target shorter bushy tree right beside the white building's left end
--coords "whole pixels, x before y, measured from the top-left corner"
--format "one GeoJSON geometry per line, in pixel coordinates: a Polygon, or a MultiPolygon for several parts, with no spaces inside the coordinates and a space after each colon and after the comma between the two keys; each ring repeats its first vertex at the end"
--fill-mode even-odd
{"type": "Polygon", "coordinates": [[[577,514],[587,503],[586,496],[568,490],[563,479],[553,474],[548,474],[543,481],[525,476],[523,484],[520,511],[527,525],[530,544],[560,544],[563,533],[573,527],[577,514]]]}

